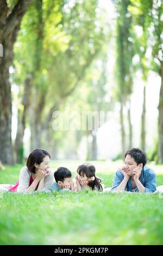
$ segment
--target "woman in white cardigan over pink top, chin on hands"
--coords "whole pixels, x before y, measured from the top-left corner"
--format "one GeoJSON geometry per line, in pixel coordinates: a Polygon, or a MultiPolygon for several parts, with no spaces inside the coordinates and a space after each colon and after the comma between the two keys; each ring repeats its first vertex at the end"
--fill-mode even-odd
{"type": "Polygon", "coordinates": [[[1,185],[1,188],[3,186],[3,191],[22,193],[48,190],[53,183],[53,173],[49,169],[50,159],[51,155],[46,150],[34,149],[27,159],[26,166],[21,169],[16,184],[1,185]]]}

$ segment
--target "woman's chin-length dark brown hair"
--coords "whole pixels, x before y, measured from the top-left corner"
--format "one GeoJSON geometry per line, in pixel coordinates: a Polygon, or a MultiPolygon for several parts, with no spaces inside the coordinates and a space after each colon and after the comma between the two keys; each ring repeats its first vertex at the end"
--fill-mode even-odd
{"type": "Polygon", "coordinates": [[[51,155],[46,150],[34,149],[27,159],[26,166],[28,167],[28,170],[31,173],[36,173],[35,163],[40,164],[45,156],[49,156],[49,158],[51,158],[51,155]]]}

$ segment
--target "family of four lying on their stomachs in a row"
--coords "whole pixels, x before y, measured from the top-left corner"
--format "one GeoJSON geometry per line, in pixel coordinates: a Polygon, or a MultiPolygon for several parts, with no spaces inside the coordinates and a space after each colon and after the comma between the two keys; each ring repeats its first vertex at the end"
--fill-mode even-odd
{"type": "Polygon", "coordinates": [[[111,188],[104,188],[101,179],[95,175],[95,166],[84,163],[77,168],[72,180],[70,170],[59,167],[54,176],[49,169],[51,155],[43,149],[35,149],[30,153],[27,164],[20,171],[19,180],[15,185],[2,184],[0,191],[21,193],[54,192],[83,190],[96,191],[128,191],[156,192],[163,186],[156,187],[156,175],[151,168],[146,167],[147,156],[141,149],[133,148],[125,154],[125,165],[117,170],[111,188]],[[55,182],[54,182],[55,179],[55,182]]]}

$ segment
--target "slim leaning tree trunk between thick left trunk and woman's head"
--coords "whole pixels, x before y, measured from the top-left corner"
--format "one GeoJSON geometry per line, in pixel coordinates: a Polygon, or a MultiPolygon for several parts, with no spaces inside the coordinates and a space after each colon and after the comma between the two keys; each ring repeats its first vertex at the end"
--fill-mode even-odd
{"type": "Polygon", "coordinates": [[[26,129],[26,115],[29,107],[31,79],[32,78],[27,78],[24,81],[24,94],[23,94],[23,100],[22,100],[23,109],[20,110],[18,113],[17,133],[16,133],[16,139],[15,139],[15,151],[16,151],[17,163],[23,162],[23,156],[24,156],[23,137],[24,137],[24,130],[26,129]]]}

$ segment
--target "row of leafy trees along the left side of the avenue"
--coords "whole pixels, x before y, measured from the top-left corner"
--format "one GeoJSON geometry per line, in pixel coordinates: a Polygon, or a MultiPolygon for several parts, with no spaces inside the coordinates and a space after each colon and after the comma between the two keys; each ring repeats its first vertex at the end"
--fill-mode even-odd
{"type": "MultiPolygon", "coordinates": [[[[16,161],[20,162],[25,128],[30,126],[32,149],[41,147],[41,142],[46,141],[45,137],[51,141],[49,138],[52,137],[53,112],[79,86],[87,69],[106,42],[103,24],[98,21],[103,18],[98,14],[98,2],[95,0],[76,1],[70,5],[68,1],[57,0],[18,1],[14,4],[15,1],[9,1],[8,4],[3,1],[1,6],[1,10],[6,11],[2,25],[4,23],[7,26],[9,17],[15,14],[15,20],[12,20],[12,24],[15,21],[15,27],[10,28],[15,36],[10,48],[1,40],[4,46],[1,74],[6,70],[7,75],[1,80],[3,97],[0,151],[2,161],[6,163],[13,162],[10,66],[14,69],[10,75],[11,83],[20,85],[18,127],[14,146],[16,161]],[[16,23],[18,19],[19,23],[16,23]],[[8,48],[10,58],[7,55],[8,48]],[[6,83],[7,86],[4,86],[6,83]],[[8,91],[4,88],[8,88],[8,91]]],[[[3,31],[2,34],[4,36],[3,31]]],[[[11,39],[7,38],[6,41],[9,44],[11,39]]]]}

